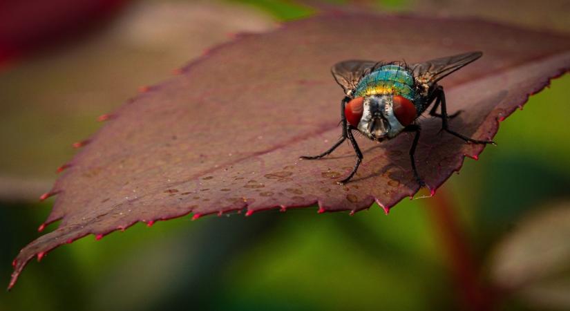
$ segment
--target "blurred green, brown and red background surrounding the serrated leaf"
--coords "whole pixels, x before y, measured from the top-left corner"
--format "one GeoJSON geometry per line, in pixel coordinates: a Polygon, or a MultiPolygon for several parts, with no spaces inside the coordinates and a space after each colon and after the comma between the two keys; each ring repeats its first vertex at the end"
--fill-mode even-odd
{"type": "MultiPolygon", "coordinates": [[[[6,285],[53,203],[37,198],[99,115],[236,32],[314,14],[278,0],[20,2],[0,4],[6,285]]],[[[569,1],[325,3],[570,32],[569,1]]],[[[498,147],[388,216],[310,208],[137,224],[32,261],[0,310],[570,310],[569,98],[570,76],[553,80],[501,123],[498,147]]]]}

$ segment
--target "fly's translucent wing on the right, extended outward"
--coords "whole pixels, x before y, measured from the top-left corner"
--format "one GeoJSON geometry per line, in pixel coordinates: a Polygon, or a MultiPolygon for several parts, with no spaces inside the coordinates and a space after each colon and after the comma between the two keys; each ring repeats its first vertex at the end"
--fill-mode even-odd
{"type": "Polygon", "coordinates": [[[475,60],[481,57],[481,55],[483,55],[482,52],[476,51],[441,57],[427,62],[413,64],[410,68],[412,68],[414,77],[416,77],[419,82],[434,84],[447,75],[450,75],[450,73],[453,73],[455,70],[458,70],[471,62],[475,62],[475,60]]]}

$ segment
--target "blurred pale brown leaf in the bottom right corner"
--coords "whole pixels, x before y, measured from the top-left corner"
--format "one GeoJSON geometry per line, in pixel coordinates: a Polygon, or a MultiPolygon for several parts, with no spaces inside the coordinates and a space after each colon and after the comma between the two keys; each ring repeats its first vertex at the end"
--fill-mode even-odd
{"type": "Polygon", "coordinates": [[[555,202],[526,216],[495,247],[496,285],[538,309],[570,308],[570,202],[555,202]]]}

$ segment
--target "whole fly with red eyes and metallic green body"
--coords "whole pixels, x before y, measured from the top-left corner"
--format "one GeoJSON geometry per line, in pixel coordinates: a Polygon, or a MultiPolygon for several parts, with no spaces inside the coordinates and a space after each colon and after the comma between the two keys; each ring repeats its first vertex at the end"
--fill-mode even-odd
{"type": "Polygon", "coordinates": [[[474,140],[449,129],[448,120],[462,111],[447,114],[443,86],[437,82],[455,70],[475,62],[483,53],[471,52],[432,59],[408,66],[405,62],[371,62],[348,60],[332,66],[336,83],[342,86],[346,96],[341,100],[342,137],[330,149],[318,156],[302,156],[302,159],[323,158],[339,147],[347,138],[357,155],[357,162],[350,174],[341,180],[343,185],[354,176],[362,162],[362,152],[352,131],[359,131],[370,140],[381,142],[395,138],[403,132],[414,132],[410,148],[410,160],[414,176],[420,187],[426,184],[419,177],[415,163],[415,151],[421,131],[417,122],[421,113],[433,104],[429,114],[441,118],[441,129],[475,144],[495,144],[492,140],[474,140]],[[441,113],[437,108],[441,107],[441,113]]]}

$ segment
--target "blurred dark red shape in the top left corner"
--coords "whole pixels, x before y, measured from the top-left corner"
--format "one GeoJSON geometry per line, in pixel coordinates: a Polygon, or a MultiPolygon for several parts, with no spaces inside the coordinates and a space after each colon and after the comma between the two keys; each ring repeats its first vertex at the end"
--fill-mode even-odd
{"type": "Polygon", "coordinates": [[[0,68],[23,55],[77,39],[129,0],[0,1],[0,68]]]}

